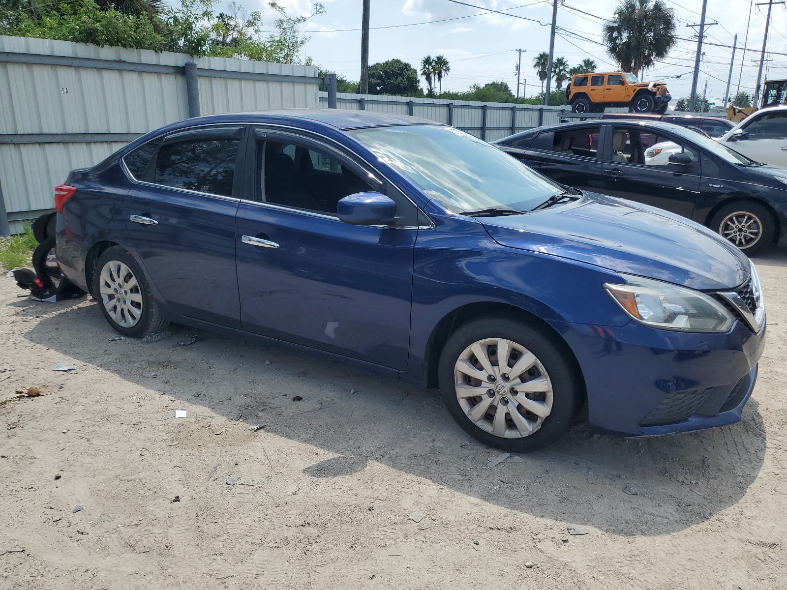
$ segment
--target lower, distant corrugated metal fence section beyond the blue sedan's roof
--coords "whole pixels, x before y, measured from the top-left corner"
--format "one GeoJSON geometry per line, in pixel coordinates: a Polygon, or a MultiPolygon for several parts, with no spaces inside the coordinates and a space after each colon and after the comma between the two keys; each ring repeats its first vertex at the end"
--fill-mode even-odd
{"type": "MultiPolygon", "coordinates": [[[[338,109],[397,112],[453,125],[478,138],[493,142],[517,131],[554,125],[561,119],[593,119],[597,113],[576,115],[571,107],[521,105],[508,102],[448,101],[379,94],[336,94],[338,109]]],[[[320,92],[320,106],[327,107],[328,94],[320,92]]]]}

